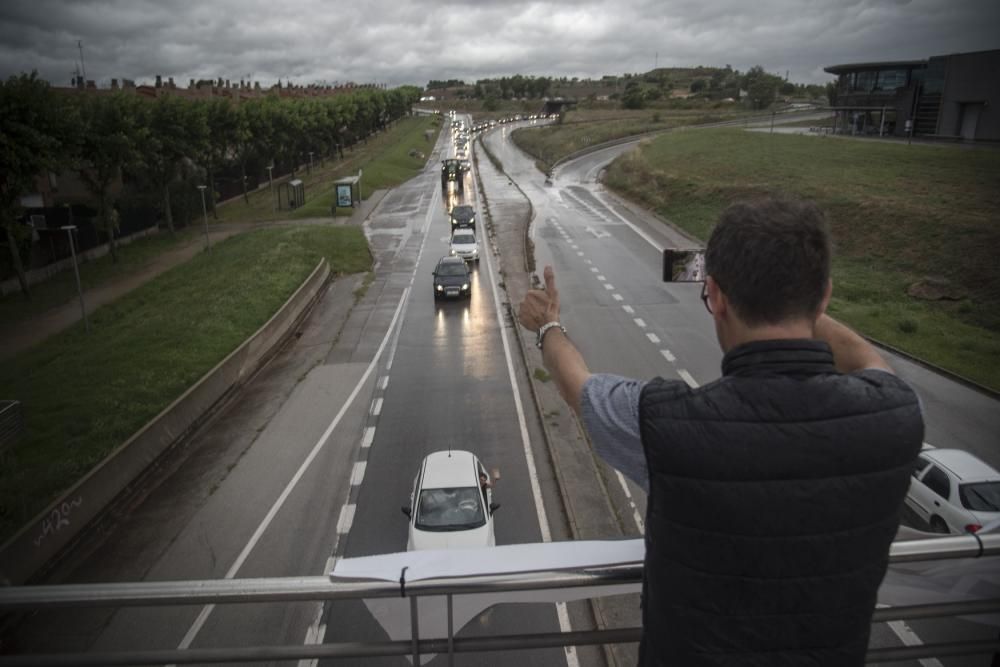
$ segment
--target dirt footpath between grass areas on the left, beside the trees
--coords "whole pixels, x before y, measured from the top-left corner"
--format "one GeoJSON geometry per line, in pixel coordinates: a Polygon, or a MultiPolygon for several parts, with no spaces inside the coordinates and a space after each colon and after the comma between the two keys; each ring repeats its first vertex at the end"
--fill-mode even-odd
{"type": "MultiPolygon", "coordinates": [[[[371,196],[354,209],[349,216],[337,218],[304,218],[302,220],[275,220],[273,222],[257,223],[223,223],[209,227],[209,239],[213,245],[234,236],[261,227],[276,225],[361,225],[386,195],[386,190],[376,190],[371,196]]],[[[111,283],[100,285],[83,293],[87,312],[92,313],[101,306],[111,303],[137,287],[149,282],[156,276],[187,262],[204,248],[202,236],[192,236],[189,243],[183,247],[169,250],[157,256],[152,262],[140,268],[135,273],[111,283]]],[[[26,319],[17,328],[0,333],[0,361],[13,358],[24,350],[59,333],[80,321],[80,303],[76,295],[61,306],[57,306],[40,315],[26,319]]]]}

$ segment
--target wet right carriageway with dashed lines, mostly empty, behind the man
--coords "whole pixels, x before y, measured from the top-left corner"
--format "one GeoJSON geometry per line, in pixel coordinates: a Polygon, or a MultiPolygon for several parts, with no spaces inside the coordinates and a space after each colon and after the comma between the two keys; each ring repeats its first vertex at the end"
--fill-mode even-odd
{"type": "MultiPolygon", "coordinates": [[[[534,160],[516,148],[509,131],[492,133],[486,141],[507,175],[530,198],[536,215],[532,225],[539,271],[555,269],[562,321],[594,372],[631,377],[661,375],[699,386],[720,375],[722,352],[711,316],[699,299],[698,284],[661,282],[664,247],[697,247],[674,228],[608,193],[599,182],[602,169],[635,142],[603,149],[558,167],[551,185],[534,160]]],[[[834,286],[836,290],[836,285],[834,286]]],[[[979,391],[941,376],[906,358],[886,353],[890,364],[920,395],[926,440],[938,447],[965,449],[1000,468],[1000,403],[979,391]]],[[[644,494],[605,470],[615,513],[635,517],[626,528],[642,531],[644,494]],[[622,489],[619,493],[618,489],[622,489]]],[[[937,566],[936,582],[921,580],[914,568],[894,568],[883,587],[883,602],[913,604],[975,594],[983,586],[975,576],[962,576],[960,565],[937,566]]],[[[921,570],[921,568],[916,568],[921,570]]],[[[997,577],[992,575],[996,582],[997,577]]],[[[995,587],[989,590],[996,592],[995,587]]],[[[873,629],[872,646],[940,642],[974,637],[995,639],[1000,619],[918,621],[873,629]],[[985,623],[985,624],[984,624],[985,623]]],[[[989,659],[925,660],[924,667],[971,667],[989,659]]]]}

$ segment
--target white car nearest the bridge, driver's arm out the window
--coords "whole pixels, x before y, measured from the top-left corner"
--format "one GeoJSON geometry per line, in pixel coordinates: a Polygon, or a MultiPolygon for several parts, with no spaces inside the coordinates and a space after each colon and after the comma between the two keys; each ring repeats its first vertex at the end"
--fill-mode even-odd
{"type": "Polygon", "coordinates": [[[475,454],[457,449],[429,454],[413,480],[410,505],[403,508],[410,519],[406,550],[492,547],[499,507],[475,454]]]}

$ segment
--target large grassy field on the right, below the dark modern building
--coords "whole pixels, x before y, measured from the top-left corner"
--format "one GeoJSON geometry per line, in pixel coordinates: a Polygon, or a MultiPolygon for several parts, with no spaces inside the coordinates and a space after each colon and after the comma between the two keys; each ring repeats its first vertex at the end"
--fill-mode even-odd
{"type": "Polygon", "coordinates": [[[1000,389],[1000,152],[698,130],[645,142],[611,165],[606,183],[701,239],[738,199],[817,202],[836,248],[831,313],[1000,389]],[[908,296],[928,276],[965,298],[908,296]]]}

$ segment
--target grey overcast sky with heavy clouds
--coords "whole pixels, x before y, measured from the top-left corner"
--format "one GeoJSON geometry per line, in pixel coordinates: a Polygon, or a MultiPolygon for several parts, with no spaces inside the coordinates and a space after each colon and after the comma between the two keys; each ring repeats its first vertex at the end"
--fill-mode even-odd
{"type": "Polygon", "coordinates": [[[0,75],[252,76],[261,85],[525,74],[600,77],[655,64],[823,67],[1000,48],[1000,0],[2,0],[0,75]]]}

